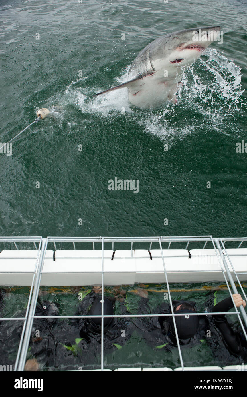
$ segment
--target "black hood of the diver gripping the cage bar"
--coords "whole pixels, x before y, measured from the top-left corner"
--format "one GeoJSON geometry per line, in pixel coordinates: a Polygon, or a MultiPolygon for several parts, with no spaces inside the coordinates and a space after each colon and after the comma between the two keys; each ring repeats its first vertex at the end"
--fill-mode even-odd
{"type": "MultiPolygon", "coordinates": [[[[195,302],[190,301],[172,301],[174,312],[176,308],[182,304],[188,303],[192,308],[195,309],[195,302]]],[[[182,309],[178,310],[179,313],[184,313],[184,316],[175,316],[176,328],[178,331],[178,339],[186,340],[192,338],[199,328],[199,318],[198,316],[190,316],[190,313],[195,313],[194,310],[190,309],[182,309]]],[[[169,319],[170,323],[170,332],[174,337],[176,337],[176,333],[174,330],[174,324],[172,317],[169,319]]]]}

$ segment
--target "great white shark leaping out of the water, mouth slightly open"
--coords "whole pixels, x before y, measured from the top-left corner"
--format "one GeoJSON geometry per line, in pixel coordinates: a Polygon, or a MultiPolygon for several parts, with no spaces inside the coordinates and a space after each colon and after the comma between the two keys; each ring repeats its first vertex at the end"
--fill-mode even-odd
{"type": "Polygon", "coordinates": [[[177,102],[183,69],[190,66],[217,40],[220,26],[184,29],[149,43],[130,66],[130,79],[101,91],[128,88],[130,102],[138,108],[157,108],[166,101],[177,102]]]}

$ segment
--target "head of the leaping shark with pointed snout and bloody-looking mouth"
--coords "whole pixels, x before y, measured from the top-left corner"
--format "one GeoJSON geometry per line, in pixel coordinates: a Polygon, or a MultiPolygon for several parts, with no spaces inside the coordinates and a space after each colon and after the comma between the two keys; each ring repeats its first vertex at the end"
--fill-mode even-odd
{"type": "Polygon", "coordinates": [[[175,68],[178,65],[191,65],[213,41],[219,40],[219,34],[220,26],[207,26],[185,29],[163,36],[151,49],[153,62],[155,63],[156,60],[161,64],[162,60],[165,60],[167,66],[174,65],[175,68]]]}

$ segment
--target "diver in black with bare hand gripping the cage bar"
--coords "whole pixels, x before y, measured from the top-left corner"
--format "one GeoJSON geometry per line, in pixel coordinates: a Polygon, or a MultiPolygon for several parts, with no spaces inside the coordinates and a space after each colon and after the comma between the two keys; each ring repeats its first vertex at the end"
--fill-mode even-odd
{"type": "MultiPolygon", "coordinates": [[[[243,307],[245,307],[246,303],[245,301],[243,301],[240,294],[234,294],[232,296],[236,307],[239,307],[241,304],[243,304],[243,307]]],[[[140,304],[140,307],[144,308],[143,314],[148,314],[148,312],[150,313],[150,308],[147,303],[147,299],[145,300],[146,306],[142,303],[140,304]]],[[[217,330],[220,331],[220,335],[228,351],[232,355],[247,358],[247,343],[245,341],[245,338],[244,336],[242,337],[240,333],[235,333],[232,330],[232,327],[228,323],[226,316],[224,314],[210,316],[210,318],[206,315],[190,316],[190,313],[197,312],[195,304],[196,303],[194,301],[172,301],[174,313],[179,312],[184,314],[184,316],[174,316],[180,345],[190,344],[191,346],[195,343],[198,343],[199,340],[207,336],[207,331],[209,331],[209,327],[212,328],[212,325],[214,325],[217,330]]],[[[208,306],[210,306],[211,304],[212,301],[209,301],[208,306]]],[[[234,304],[232,302],[232,298],[229,297],[217,303],[213,307],[213,310],[211,310],[211,312],[227,312],[233,307],[234,304]]],[[[161,304],[161,306],[158,310],[155,311],[155,313],[157,313],[157,317],[151,317],[148,321],[146,321],[145,318],[136,319],[136,326],[142,331],[142,333],[145,333],[145,338],[149,340],[152,345],[160,345],[160,347],[165,346],[165,344],[161,345],[161,341],[162,343],[164,343],[164,337],[162,338],[160,332],[161,329],[163,335],[166,336],[167,344],[177,346],[176,333],[172,316],[159,316],[159,314],[172,313],[170,305],[167,303],[161,304]],[[144,330],[145,327],[146,330],[144,330]]],[[[207,311],[205,311],[205,313],[207,313],[207,311]]],[[[207,340],[210,339],[213,338],[207,338],[207,340]]]]}

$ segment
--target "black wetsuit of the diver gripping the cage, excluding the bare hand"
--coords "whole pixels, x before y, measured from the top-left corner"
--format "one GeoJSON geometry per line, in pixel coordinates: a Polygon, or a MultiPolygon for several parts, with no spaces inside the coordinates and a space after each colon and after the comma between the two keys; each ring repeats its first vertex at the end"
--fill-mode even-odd
{"type": "MultiPolygon", "coordinates": [[[[188,301],[180,301],[188,302],[188,301]]],[[[206,306],[213,305],[213,298],[210,297],[206,306]]],[[[162,303],[158,308],[152,310],[149,306],[148,299],[142,298],[139,304],[139,314],[169,314],[171,309],[167,303],[162,303]]],[[[227,312],[232,307],[231,297],[224,299],[215,306],[211,312],[227,312]]],[[[216,352],[214,357],[220,360],[220,352],[222,351],[222,341],[232,355],[247,358],[247,344],[244,337],[240,333],[235,333],[228,323],[224,314],[218,316],[198,316],[199,326],[195,335],[189,339],[179,340],[180,345],[189,345],[190,347],[199,343],[200,340],[206,340],[212,351],[216,352]],[[210,333],[208,334],[208,331],[210,333]],[[219,332],[220,331],[220,332],[219,332]],[[208,335],[207,335],[208,334],[208,335]],[[209,337],[210,335],[210,337],[209,337]]],[[[177,346],[176,337],[172,332],[170,317],[143,317],[134,320],[136,327],[149,344],[153,347],[172,345],[177,346]]]]}

